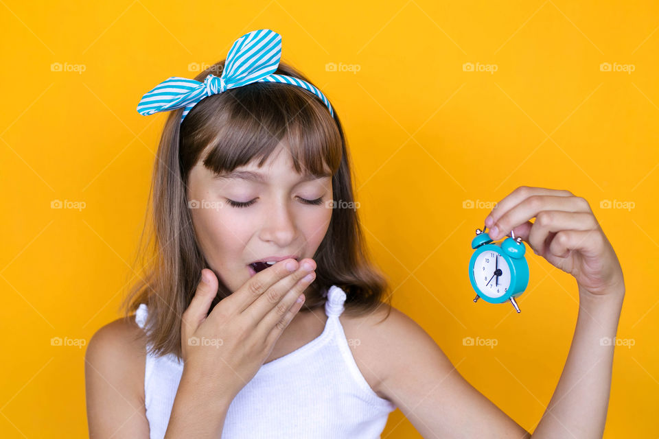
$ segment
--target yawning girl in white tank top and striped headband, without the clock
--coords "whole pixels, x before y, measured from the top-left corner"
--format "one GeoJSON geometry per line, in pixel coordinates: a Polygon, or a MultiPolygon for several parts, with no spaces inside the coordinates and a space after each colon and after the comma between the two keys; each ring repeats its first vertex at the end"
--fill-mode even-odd
{"type": "MultiPolygon", "coordinates": [[[[387,302],[338,116],[280,51],[275,32],[250,32],[138,106],[170,111],[154,256],[128,317],[87,348],[90,436],[378,438],[399,407],[426,438],[530,437],[387,302]]],[[[533,437],[601,437],[614,350],[601,338],[616,334],[625,286],[588,202],[520,187],[485,225],[577,280],[573,344],[533,437]]]]}

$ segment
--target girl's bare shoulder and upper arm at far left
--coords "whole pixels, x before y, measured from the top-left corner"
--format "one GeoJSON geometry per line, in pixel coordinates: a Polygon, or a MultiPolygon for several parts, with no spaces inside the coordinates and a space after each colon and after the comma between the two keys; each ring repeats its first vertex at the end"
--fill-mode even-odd
{"type": "Polygon", "coordinates": [[[134,318],[114,320],[91,337],[84,356],[91,438],[148,438],[145,360],[146,336],[134,318]]]}

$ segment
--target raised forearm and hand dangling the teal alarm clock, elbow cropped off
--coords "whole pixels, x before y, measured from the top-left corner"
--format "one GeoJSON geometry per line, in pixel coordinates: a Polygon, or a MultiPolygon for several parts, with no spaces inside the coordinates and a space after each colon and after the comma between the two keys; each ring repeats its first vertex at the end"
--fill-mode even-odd
{"type": "Polygon", "coordinates": [[[625,282],[620,262],[586,200],[569,191],[519,187],[485,225],[500,239],[513,230],[536,254],[571,274],[579,314],[568,359],[535,438],[601,438],[625,282]],[[535,217],[535,222],[529,219],[535,217]],[[495,233],[494,227],[497,228],[495,233]]]}

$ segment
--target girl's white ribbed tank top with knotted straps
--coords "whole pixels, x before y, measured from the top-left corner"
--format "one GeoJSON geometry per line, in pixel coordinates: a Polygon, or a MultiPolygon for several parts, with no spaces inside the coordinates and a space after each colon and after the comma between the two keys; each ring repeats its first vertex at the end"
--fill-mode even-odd
{"type": "MultiPolygon", "coordinates": [[[[263,364],[229,406],[222,439],[380,438],[396,405],[376,394],[361,374],[338,316],[345,292],[325,292],[323,333],[295,351],[263,364]]],[[[147,307],[135,321],[143,328],[147,307]]],[[[173,353],[147,353],[144,374],[150,439],[165,436],[183,363],[173,353]]]]}

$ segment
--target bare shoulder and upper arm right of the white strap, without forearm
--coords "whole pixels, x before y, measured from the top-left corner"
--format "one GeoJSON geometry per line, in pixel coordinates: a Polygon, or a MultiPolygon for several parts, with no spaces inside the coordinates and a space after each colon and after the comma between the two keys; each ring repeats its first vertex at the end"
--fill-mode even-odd
{"type": "Polygon", "coordinates": [[[460,375],[417,322],[394,307],[387,316],[387,308],[342,315],[341,322],[373,391],[395,403],[421,436],[453,437],[458,431],[465,438],[531,437],[460,375]]]}

